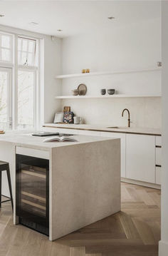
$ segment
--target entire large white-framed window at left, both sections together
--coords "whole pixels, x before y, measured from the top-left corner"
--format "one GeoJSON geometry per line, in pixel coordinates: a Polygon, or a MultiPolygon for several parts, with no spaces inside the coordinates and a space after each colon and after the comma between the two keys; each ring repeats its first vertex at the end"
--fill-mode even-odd
{"type": "Polygon", "coordinates": [[[0,130],[35,128],[37,81],[38,39],[0,31],[0,130]]]}

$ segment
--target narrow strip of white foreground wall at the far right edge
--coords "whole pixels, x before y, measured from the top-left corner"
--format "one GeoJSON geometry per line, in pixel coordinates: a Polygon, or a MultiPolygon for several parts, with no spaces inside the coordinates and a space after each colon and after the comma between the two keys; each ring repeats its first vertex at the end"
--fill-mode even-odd
{"type": "Polygon", "coordinates": [[[162,208],[159,256],[168,253],[168,1],[162,1],[162,208]]]}

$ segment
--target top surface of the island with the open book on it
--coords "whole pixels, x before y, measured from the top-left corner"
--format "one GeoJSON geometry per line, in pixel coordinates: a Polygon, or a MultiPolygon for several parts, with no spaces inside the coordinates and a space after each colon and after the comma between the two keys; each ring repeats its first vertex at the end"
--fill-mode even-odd
{"type": "MultiPolygon", "coordinates": [[[[31,132],[33,133],[33,132],[31,132]]],[[[93,142],[99,142],[99,141],[105,141],[115,138],[103,138],[103,137],[97,137],[97,136],[90,136],[90,135],[74,135],[70,136],[72,138],[75,138],[78,140],[78,142],[47,142],[44,143],[43,140],[47,137],[37,137],[32,136],[29,132],[26,131],[9,131],[5,134],[0,134],[0,143],[6,142],[6,143],[12,143],[16,146],[22,146],[26,148],[35,148],[35,149],[41,149],[41,150],[50,150],[52,148],[58,148],[63,146],[69,146],[69,145],[76,145],[76,144],[83,144],[83,143],[93,143],[93,142]]],[[[49,136],[48,136],[49,137],[49,136]]]]}

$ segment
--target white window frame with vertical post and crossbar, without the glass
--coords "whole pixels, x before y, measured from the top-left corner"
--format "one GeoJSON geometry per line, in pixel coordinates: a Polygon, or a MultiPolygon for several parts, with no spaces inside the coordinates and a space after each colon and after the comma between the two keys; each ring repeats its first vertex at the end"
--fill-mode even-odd
{"type": "Polygon", "coordinates": [[[40,112],[40,95],[38,93],[41,92],[40,89],[40,70],[41,70],[41,38],[34,36],[27,36],[21,34],[10,33],[6,31],[1,31],[0,34],[6,34],[11,36],[11,62],[9,61],[1,61],[0,60],[0,68],[11,68],[11,116],[9,123],[11,124],[11,130],[19,130],[18,127],[18,71],[33,71],[34,72],[34,110],[33,110],[33,127],[28,130],[37,129],[41,126],[41,112],[40,112]],[[33,39],[36,40],[36,66],[26,66],[19,65],[18,63],[18,39],[19,37],[23,37],[25,39],[33,39]]]}

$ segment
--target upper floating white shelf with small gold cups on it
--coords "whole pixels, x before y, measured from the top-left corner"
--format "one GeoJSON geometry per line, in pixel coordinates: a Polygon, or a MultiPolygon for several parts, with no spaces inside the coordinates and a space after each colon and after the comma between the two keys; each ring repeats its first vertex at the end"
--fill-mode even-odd
{"type": "Polygon", "coordinates": [[[90,73],[72,73],[68,75],[56,76],[58,79],[63,78],[73,78],[73,77],[88,77],[88,76],[105,76],[105,75],[115,75],[122,73],[141,73],[141,72],[151,72],[151,71],[161,71],[162,68],[142,68],[142,69],[132,69],[125,71],[105,71],[105,72],[90,72],[90,73]]]}

